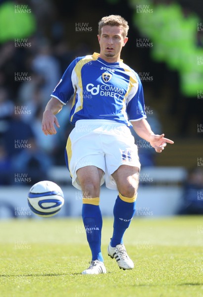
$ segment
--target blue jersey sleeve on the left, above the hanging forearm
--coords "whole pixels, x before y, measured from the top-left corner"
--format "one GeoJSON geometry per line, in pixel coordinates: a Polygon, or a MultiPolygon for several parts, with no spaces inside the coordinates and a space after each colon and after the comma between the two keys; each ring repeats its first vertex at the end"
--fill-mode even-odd
{"type": "Polygon", "coordinates": [[[76,59],[70,63],[68,68],[63,73],[59,83],[56,85],[55,89],[51,93],[51,97],[57,98],[63,104],[66,104],[75,92],[71,80],[71,75],[76,63],[76,59]]]}

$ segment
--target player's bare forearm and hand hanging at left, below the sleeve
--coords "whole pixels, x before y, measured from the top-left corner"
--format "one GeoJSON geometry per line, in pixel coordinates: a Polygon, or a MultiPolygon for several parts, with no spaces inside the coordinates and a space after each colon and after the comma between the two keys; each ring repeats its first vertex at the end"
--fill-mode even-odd
{"type": "Polygon", "coordinates": [[[54,97],[51,97],[50,101],[47,103],[42,120],[42,131],[45,135],[56,134],[54,124],[56,127],[60,128],[55,114],[57,114],[62,107],[63,103],[54,97]]]}

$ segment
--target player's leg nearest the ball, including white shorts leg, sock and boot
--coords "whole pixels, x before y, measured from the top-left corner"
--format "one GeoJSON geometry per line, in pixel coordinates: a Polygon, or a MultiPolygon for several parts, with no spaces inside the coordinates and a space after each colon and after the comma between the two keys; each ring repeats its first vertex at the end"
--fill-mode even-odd
{"type": "Polygon", "coordinates": [[[100,134],[94,133],[98,125],[92,120],[77,121],[69,135],[65,150],[72,184],[83,192],[82,217],[92,251],[91,265],[89,269],[83,271],[83,274],[106,272],[101,255],[102,217],[99,206],[105,159],[101,150],[100,134]]]}

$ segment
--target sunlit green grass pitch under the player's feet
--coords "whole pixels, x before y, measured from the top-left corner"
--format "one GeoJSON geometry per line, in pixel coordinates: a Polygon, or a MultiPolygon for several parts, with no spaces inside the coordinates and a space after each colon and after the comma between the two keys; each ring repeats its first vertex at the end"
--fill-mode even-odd
{"type": "Polygon", "coordinates": [[[134,218],[130,271],[107,256],[111,234],[104,218],[107,273],[81,275],[91,257],[80,218],[0,221],[0,297],[203,297],[203,216],[134,218]]]}

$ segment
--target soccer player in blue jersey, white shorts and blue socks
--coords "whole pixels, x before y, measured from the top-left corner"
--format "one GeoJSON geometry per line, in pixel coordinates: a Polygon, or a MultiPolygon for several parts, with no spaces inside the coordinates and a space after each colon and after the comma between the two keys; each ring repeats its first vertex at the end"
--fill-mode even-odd
{"type": "Polygon", "coordinates": [[[56,114],[73,99],[70,133],[65,159],[72,184],[83,192],[82,218],[92,260],[82,274],[106,273],[101,254],[102,216],[100,186],[117,189],[113,208],[113,234],[107,247],[119,268],[133,269],[134,263],[123,244],[123,235],[135,213],[140,162],[129,127],[156,152],[167,143],[164,134],[152,132],[146,120],[143,88],[138,74],[120,59],[128,41],[128,23],[119,15],[99,22],[100,53],[77,57],[64,72],[51,94],[42,122],[45,135],[59,128],[56,114]],[[55,124],[55,126],[54,126],[55,124]]]}

